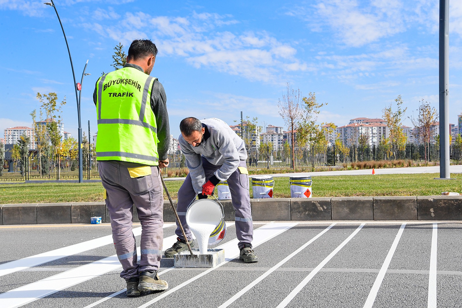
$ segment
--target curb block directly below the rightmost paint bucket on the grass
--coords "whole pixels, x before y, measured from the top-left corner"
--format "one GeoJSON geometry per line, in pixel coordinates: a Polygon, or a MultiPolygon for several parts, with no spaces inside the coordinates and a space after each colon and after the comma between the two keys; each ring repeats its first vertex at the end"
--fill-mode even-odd
{"type": "Polygon", "coordinates": [[[332,220],[331,198],[291,198],[289,220],[332,220]]]}

